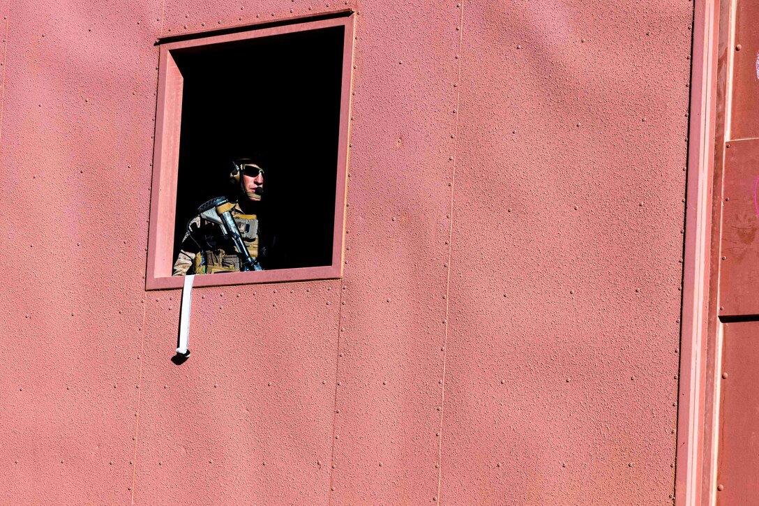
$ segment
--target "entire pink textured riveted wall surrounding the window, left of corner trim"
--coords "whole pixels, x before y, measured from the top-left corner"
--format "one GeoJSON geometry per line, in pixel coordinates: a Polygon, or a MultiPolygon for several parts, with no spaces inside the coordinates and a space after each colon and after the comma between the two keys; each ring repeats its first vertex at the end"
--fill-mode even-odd
{"type": "Polygon", "coordinates": [[[0,6],[0,504],[669,504],[692,2],[0,6]],[[342,280],[144,274],[157,36],[357,11],[342,280]]]}

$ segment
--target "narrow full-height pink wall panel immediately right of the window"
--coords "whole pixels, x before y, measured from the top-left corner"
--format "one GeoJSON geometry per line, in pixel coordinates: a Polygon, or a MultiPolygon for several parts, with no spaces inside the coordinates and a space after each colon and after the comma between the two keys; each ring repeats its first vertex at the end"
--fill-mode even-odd
{"type": "Polygon", "coordinates": [[[448,5],[361,5],[334,504],[436,498],[455,138],[448,5]]]}

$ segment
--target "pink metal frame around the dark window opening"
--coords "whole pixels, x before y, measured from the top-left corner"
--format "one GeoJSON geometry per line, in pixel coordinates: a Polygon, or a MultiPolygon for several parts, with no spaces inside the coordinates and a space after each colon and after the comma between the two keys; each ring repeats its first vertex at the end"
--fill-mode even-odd
{"type": "Polygon", "coordinates": [[[332,229],[331,264],[319,267],[295,267],[277,270],[235,272],[223,275],[202,274],[194,286],[226,286],[287,281],[329,280],[342,278],[345,242],[345,207],[348,191],[348,138],[350,135],[351,78],[353,68],[354,14],[351,11],[317,19],[295,19],[276,24],[252,24],[233,29],[184,34],[181,40],[172,37],[159,40],[158,93],[156,102],[156,135],[153,145],[153,182],[150,196],[150,228],[148,229],[146,290],[181,288],[183,276],[172,276],[174,264],[174,232],[179,169],[179,140],[184,77],[172,52],[179,49],[212,46],[264,36],[282,35],[320,28],[344,27],[342,55],[342,89],[340,96],[339,140],[335,221],[332,229]],[[188,37],[185,39],[184,37],[188,37]]]}

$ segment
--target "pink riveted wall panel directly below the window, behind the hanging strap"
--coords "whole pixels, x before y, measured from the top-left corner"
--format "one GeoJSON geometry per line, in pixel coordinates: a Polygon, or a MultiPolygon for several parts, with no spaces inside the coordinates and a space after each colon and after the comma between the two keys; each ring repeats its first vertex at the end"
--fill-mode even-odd
{"type": "Polygon", "coordinates": [[[328,501],[339,286],[197,290],[179,367],[177,296],[150,293],[137,504],[328,501]]]}

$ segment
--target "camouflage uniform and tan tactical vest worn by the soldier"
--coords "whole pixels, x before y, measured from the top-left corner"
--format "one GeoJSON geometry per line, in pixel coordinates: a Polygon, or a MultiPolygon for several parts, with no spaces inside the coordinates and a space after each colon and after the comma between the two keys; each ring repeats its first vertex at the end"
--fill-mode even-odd
{"type": "MultiPolygon", "coordinates": [[[[238,225],[250,256],[263,261],[266,248],[260,246],[260,231],[256,215],[244,214],[240,209],[240,204],[235,204],[230,213],[238,225]]],[[[189,230],[182,239],[181,250],[177,261],[174,262],[172,276],[240,270],[240,257],[235,250],[235,245],[231,239],[224,238],[219,225],[198,215],[190,221],[187,228],[189,230]]],[[[261,269],[258,263],[256,270],[261,269]]]]}

